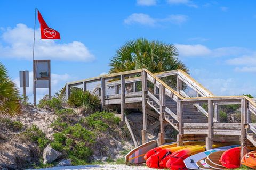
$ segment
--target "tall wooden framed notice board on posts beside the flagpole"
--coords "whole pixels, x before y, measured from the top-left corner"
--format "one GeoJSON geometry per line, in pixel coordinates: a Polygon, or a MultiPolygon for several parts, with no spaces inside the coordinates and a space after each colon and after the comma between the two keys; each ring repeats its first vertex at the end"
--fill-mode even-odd
{"type": "Polygon", "coordinates": [[[36,88],[48,88],[51,99],[51,60],[33,60],[34,106],[36,105],[36,88]]]}

